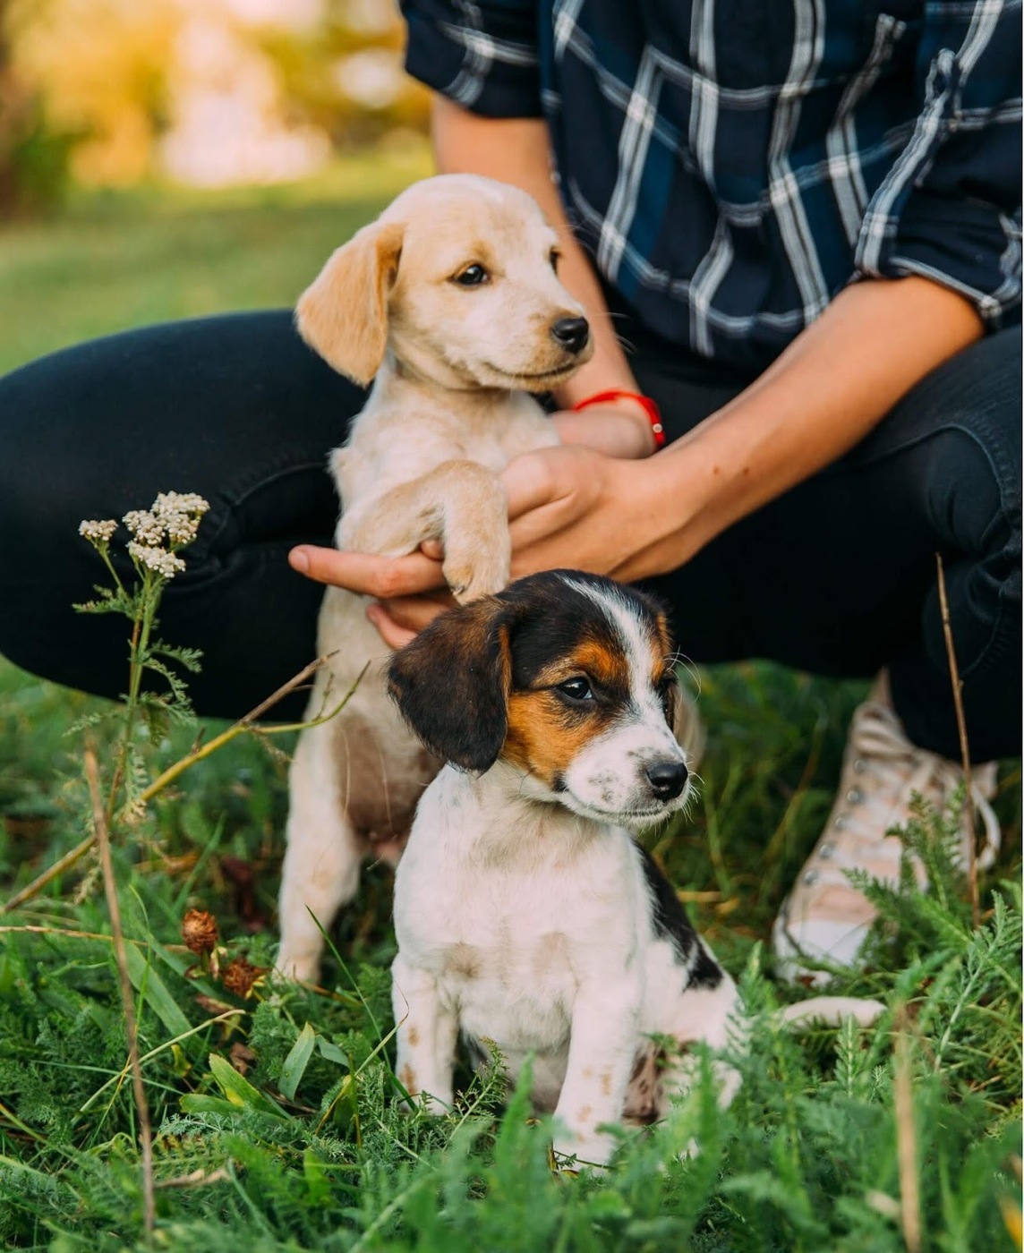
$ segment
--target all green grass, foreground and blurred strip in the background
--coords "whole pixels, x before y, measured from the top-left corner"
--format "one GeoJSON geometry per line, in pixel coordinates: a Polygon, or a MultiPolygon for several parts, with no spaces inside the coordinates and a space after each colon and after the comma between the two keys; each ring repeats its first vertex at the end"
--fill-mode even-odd
{"type": "MultiPolygon", "coordinates": [[[[407,153],[347,162],[300,188],[84,197],[61,219],[14,228],[0,234],[0,360],[142,321],[287,303],[422,170],[422,154],[407,153]]],[[[649,846],[760,1015],[792,995],[772,984],[763,944],[831,804],[864,685],[763,664],[703,680],[701,803],[649,846]]],[[[107,708],[0,663],[3,896],[81,840],[81,737],[69,728],[99,719],[103,761],[107,708]]],[[[150,773],[192,737],[183,728],[150,746],[150,773]]],[[[263,979],[243,995],[184,949],[182,917],[198,907],[218,920],[222,971],[239,956],[271,965],[285,769],[261,742],[234,741],[114,850],[155,1133],[157,1247],[1020,1247],[1019,763],[1001,772],[1004,852],[983,882],[981,928],[943,856],[943,823],[925,816],[909,838],[931,860],[935,890],[876,892],[887,926],[869,969],[844,985],[891,1006],[880,1027],[790,1037],[760,1017],[732,1109],[718,1114],[699,1086],[666,1125],[630,1138],[603,1180],[553,1175],[545,1125],[523,1094],[506,1108],[494,1080],[464,1075],[462,1104],[440,1123],[397,1113],[385,868],[365,873],[320,992],[263,979]],[[679,1162],[694,1138],[701,1154],[679,1162]]],[[[138,1123],[95,862],[0,927],[0,1242],[143,1247],[138,1123]]]]}

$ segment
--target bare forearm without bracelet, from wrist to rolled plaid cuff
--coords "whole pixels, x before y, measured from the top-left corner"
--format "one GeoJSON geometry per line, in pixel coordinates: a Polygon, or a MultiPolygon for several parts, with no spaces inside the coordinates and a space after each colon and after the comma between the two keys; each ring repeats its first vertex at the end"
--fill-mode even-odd
{"type": "Polygon", "coordinates": [[[980,335],[973,307],[927,279],[846,288],[761,378],[645,466],[667,524],[645,546],[643,573],[678,566],[842,456],[980,335]]]}

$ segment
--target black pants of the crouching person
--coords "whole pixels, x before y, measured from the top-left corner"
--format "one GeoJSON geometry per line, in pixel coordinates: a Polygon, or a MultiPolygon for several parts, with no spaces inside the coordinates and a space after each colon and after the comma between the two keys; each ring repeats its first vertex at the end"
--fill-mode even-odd
{"type": "MultiPolygon", "coordinates": [[[[635,327],[625,336],[671,439],[750,382],[635,327]]],[[[78,524],[147,507],[158,491],[198,491],[212,509],[188,571],[168,588],[160,634],[202,648],[201,713],[256,705],[313,655],[321,588],[286,554],[330,543],[337,504],[325,455],[361,405],[286,311],[134,331],[0,380],[0,652],[60,683],[122,692],[125,624],[71,609],[104,575],[78,524]]],[[[851,454],[652,586],[697,662],[761,657],[847,677],[887,665],[911,738],[955,757],[936,551],[974,756],[1014,754],[1019,331],[961,352],[851,454]]]]}

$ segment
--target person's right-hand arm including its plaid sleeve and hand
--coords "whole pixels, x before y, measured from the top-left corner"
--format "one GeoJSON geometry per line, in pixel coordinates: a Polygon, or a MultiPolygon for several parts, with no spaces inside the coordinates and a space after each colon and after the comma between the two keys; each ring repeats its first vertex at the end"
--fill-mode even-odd
{"type": "MultiPolygon", "coordinates": [[[[985,6],[976,21],[971,6],[925,9],[921,112],[867,207],[856,251],[864,281],[757,383],[652,461],[562,447],[513,464],[514,573],[580,565],[640,578],[682,564],[842,455],[983,323],[1019,316],[1019,148],[1008,139],[1019,122],[1019,38],[999,30],[1019,24],[1019,8],[985,6]]],[[[389,573],[392,591],[402,578],[389,573]]],[[[411,605],[392,611],[415,624],[411,605]]]]}

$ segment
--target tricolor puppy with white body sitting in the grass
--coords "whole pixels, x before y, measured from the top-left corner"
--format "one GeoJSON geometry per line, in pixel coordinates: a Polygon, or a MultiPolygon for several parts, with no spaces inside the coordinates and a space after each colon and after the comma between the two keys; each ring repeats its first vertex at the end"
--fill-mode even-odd
{"type": "MultiPolygon", "coordinates": [[[[661,1118],[692,1081],[652,1036],[727,1044],[733,981],[630,832],[687,803],[672,733],[664,614],[607,579],[558,570],[439,618],[389,668],[394,699],[449,764],[424,793],[395,883],[396,1074],[452,1101],[461,1030],[493,1040],[560,1124],[555,1152],[602,1165],[603,1124],[661,1118]]],[[[872,1020],[820,997],[785,1016],[872,1020]]],[[[737,1073],[716,1064],[722,1103],[737,1073]]]]}

